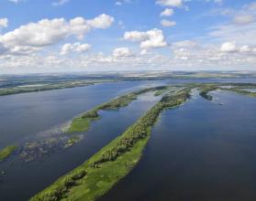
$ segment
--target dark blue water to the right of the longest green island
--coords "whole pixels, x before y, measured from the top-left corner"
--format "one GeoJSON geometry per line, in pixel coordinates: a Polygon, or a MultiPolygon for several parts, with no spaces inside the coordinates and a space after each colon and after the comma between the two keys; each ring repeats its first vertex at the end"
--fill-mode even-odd
{"type": "Polygon", "coordinates": [[[256,200],[256,99],[213,94],[164,111],[139,165],[100,200],[256,200]]]}

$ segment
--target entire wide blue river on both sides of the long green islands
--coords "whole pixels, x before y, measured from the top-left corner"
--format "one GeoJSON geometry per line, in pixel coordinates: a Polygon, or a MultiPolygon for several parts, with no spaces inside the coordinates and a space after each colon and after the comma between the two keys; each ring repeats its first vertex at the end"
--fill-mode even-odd
{"type": "MultiPolygon", "coordinates": [[[[24,143],[128,91],[199,81],[255,79],[127,81],[3,96],[0,149],[24,143]]],[[[183,107],[164,111],[141,162],[106,199],[109,196],[109,200],[120,200],[120,196],[126,195],[122,200],[221,200],[215,198],[247,195],[245,200],[255,200],[255,100],[227,93],[216,96],[225,104],[195,98],[183,107]]],[[[21,162],[15,155],[0,163],[0,172],[5,172],[0,174],[0,200],[28,200],[115,139],[158,99],[147,93],[119,111],[102,111],[101,120],[92,124],[83,141],[64,152],[30,163],[21,162]]]]}

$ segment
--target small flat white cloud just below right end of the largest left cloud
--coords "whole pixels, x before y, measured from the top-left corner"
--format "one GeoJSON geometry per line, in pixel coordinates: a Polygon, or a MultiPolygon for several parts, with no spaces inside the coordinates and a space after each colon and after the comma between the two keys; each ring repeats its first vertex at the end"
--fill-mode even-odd
{"type": "Polygon", "coordinates": [[[83,53],[88,51],[91,48],[89,44],[81,44],[81,43],[66,43],[61,47],[61,55],[67,55],[72,52],[83,53]]]}

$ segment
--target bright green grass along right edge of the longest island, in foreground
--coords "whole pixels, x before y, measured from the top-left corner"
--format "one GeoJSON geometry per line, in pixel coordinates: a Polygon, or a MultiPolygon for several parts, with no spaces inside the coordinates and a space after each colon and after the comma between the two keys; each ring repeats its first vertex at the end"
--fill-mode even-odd
{"type": "Polygon", "coordinates": [[[66,194],[63,200],[95,200],[109,191],[113,185],[128,175],[130,170],[139,162],[142,150],[149,140],[149,136],[140,140],[128,152],[122,154],[116,161],[106,162],[100,168],[90,168],[88,174],[66,194]]]}

